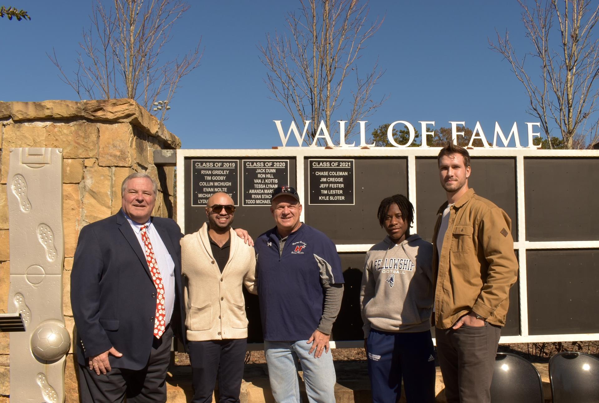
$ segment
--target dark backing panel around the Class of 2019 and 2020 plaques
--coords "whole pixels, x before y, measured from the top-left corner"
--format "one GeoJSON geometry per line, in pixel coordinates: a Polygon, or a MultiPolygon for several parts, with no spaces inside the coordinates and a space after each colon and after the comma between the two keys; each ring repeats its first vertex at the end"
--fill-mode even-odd
{"type": "MultiPolygon", "coordinates": [[[[289,160],[289,185],[295,187],[295,159],[292,157],[276,157],[276,158],[239,158],[239,157],[216,157],[216,158],[205,158],[205,157],[194,157],[191,159],[185,159],[184,170],[185,170],[185,234],[192,234],[204,224],[207,220],[205,207],[194,207],[191,205],[191,160],[202,159],[202,160],[237,160],[239,166],[239,202],[240,205],[235,210],[235,219],[233,222],[234,228],[243,228],[250,233],[250,236],[254,239],[262,232],[267,229],[273,228],[275,223],[272,214],[270,213],[270,206],[242,206],[243,202],[243,187],[241,175],[243,168],[241,167],[242,160],[289,160]]],[[[287,183],[286,183],[287,184],[287,183]]]]}

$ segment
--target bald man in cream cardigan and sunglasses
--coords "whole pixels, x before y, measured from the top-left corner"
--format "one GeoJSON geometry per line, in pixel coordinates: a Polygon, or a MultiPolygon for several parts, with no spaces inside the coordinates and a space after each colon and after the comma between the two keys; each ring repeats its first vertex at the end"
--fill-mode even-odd
{"type": "Polygon", "coordinates": [[[187,349],[192,402],[212,401],[219,375],[220,403],[239,402],[247,345],[242,284],[255,290],[256,257],[231,228],[235,206],[226,193],[208,199],[199,231],[181,240],[187,349]]]}

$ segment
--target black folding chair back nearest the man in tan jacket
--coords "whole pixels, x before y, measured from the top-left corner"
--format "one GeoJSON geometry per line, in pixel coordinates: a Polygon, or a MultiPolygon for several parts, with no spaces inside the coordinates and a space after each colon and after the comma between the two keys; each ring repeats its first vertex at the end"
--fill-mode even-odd
{"type": "Polygon", "coordinates": [[[543,382],[537,368],[516,354],[497,353],[491,402],[543,403],[543,382]]]}

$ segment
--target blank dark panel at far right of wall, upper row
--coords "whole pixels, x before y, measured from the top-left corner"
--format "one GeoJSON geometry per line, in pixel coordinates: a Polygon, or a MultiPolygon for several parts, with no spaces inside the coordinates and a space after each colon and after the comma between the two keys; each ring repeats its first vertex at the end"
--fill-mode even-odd
{"type": "Polygon", "coordinates": [[[527,241],[594,241],[599,158],[525,158],[527,241]]]}

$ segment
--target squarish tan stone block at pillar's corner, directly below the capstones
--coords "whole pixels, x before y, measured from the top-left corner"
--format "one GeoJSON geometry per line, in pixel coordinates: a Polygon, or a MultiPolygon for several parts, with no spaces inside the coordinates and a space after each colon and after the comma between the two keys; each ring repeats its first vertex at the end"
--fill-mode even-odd
{"type": "Polygon", "coordinates": [[[105,125],[98,123],[99,165],[131,166],[133,148],[133,130],[128,123],[105,125]]]}

